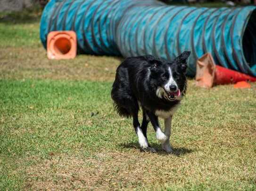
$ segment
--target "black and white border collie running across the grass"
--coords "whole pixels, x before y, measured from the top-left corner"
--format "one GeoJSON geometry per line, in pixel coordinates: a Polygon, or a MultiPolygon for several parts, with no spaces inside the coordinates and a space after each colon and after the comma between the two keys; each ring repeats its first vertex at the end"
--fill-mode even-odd
{"type": "Polygon", "coordinates": [[[119,115],[133,118],[133,126],[143,151],[156,152],[147,138],[149,121],[156,131],[162,148],[172,152],[170,145],[171,120],[186,92],[186,69],[189,51],[183,52],[172,62],[152,55],[129,57],[116,70],[111,91],[114,106],[119,115]],[[143,111],[140,126],[138,112],[143,111]],[[158,117],[165,120],[162,132],[158,117]]]}

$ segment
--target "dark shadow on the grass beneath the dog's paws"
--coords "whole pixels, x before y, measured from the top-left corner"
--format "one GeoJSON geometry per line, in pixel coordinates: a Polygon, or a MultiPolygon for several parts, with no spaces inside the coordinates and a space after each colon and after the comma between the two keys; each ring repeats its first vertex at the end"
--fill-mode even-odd
{"type": "MultiPolygon", "coordinates": [[[[136,143],[136,142],[122,143],[119,146],[121,146],[123,148],[133,148],[133,149],[135,148],[135,149],[140,150],[140,145],[138,143],[136,143]]],[[[169,154],[169,153],[166,153],[160,147],[160,144],[153,143],[153,144],[150,144],[150,146],[157,150],[156,154],[160,154],[160,155],[168,155],[169,154]]],[[[184,148],[184,147],[179,147],[179,148],[173,148],[173,153],[170,153],[170,154],[174,154],[176,156],[182,156],[182,155],[185,155],[185,154],[192,153],[194,151],[195,150],[192,150],[192,149],[187,149],[187,148],[184,148]]]]}

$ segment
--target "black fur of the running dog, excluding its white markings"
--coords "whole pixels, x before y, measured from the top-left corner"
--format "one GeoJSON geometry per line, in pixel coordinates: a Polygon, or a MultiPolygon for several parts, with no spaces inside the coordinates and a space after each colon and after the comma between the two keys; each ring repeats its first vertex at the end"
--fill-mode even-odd
{"type": "Polygon", "coordinates": [[[163,87],[169,79],[169,67],[172,71],[173,79],[182,92],[182,96],[185,94],[185,72],[189,55],[190,52],[185,51],[172,62],[155,58],[152,55],[129,57],[117,68],[116,79],[111,91],[116,111],[122,116],[132,116],[136,130],[140,126],[138,111],[141,106],[143,110],[141,129],[145,137],[147,137],[147,117],[149,117],[156,130],[154,126],[158,125],[158,119],[155,115],[156,110],[169,111],[180,103],[180,100],[170,101],[165,98],[159,98],[156,94],[157,87],[163,87]]]}

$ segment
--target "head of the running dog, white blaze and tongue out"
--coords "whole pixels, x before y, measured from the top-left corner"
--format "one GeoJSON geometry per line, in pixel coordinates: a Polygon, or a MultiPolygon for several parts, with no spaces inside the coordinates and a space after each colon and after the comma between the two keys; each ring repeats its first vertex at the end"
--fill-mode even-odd
{"type": "Polygon", "coordinates": [[[158,98],[168,101],[181,100],[186,89],[185,74],[189,55],[190,51],[184,51],[172,62],[157,59],[150,61],[152,66],[149,82],[158,98]]]}

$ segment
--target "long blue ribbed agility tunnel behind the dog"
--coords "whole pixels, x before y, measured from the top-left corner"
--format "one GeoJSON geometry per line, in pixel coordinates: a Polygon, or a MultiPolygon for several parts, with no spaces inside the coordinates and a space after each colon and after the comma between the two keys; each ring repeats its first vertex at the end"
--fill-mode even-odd
{"type": "Polygon", "coordinates": [[[75,31],[78,53],[138,56],[168,61],[185,50],[188,76],[211,53],[215,63],[256,76],[256,7],[195,8],[157,0],[50,0],[41,17],[46,48],[50,31],[75,31]]]}

